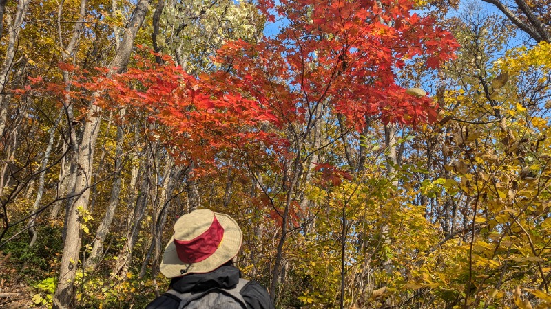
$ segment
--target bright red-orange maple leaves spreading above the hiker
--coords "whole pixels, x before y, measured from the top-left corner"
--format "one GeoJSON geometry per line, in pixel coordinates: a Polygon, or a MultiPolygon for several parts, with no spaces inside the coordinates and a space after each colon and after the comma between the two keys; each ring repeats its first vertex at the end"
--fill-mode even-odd
{"type": "MultiPolygon", "coordinates": [[[[357,130],[366,115],[399,124],[433,122],[437,104],[406,93],[396,71],[415,57],[436,68],[458,45],[433,19],[412,14],[413,3],[298,0],[275,7],[260,1],[268,20],[275,9],[287,26],[259,43],[226,43],[212,59],[218,71],[191,76],[166,56],[163,65],[138,57],[138,65],[109,79],[105,69],[96,76],[82,72],[72,83],[79,90],[68,94],[100,91],[96,104],[105,109],[131,106],[130,116],[162,124],[155,134],[178,149],[180,163],[203,167],[220,152],[278,161],[289,155],[289,142],[267,126],[309,124],[320,104],[357,130]]],[[[59,84],[46,89],[67,94],[59,84]]]]}

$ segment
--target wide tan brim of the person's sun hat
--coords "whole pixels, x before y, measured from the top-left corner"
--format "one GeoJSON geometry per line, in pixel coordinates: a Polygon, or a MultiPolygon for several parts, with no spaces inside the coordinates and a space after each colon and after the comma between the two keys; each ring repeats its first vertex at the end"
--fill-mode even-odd
{"type": "Polygon", "coordinates": [[[188,273],[209,273],[222,266],[239,252],[241,240],[243,238],[241,229],[236,220],[233,220],[227,214],[214,213],[218,222],[224,229],[224,236],[218,246],[218,249],[211,256],[197,263],[186,264],[178,258],[174,238],[172,238],[163,255],[163,261],[160,262],[160,272],[168,278],[180,277],[188,273]]]}

